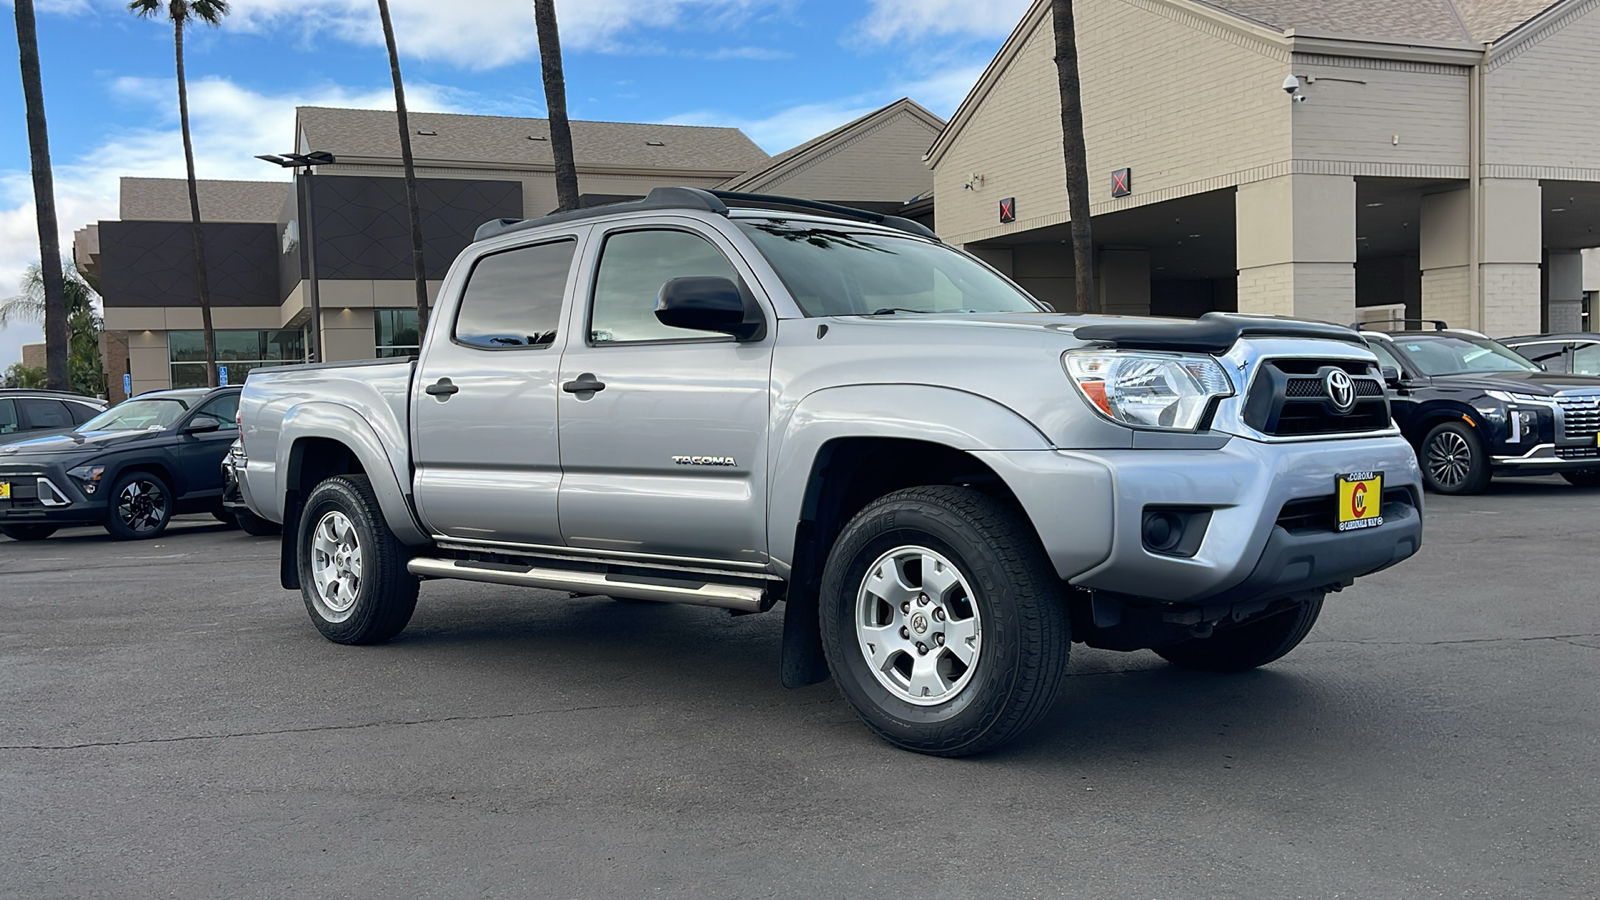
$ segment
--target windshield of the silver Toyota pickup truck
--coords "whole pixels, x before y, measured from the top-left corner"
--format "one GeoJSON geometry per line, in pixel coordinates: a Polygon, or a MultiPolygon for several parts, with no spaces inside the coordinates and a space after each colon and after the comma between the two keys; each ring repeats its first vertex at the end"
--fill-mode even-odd
{"type": "Polygon", "coordinates": [[[1000,275],[941,243],[786,219],[738,224],[806,315],[1046,311],[1000,275]]]}

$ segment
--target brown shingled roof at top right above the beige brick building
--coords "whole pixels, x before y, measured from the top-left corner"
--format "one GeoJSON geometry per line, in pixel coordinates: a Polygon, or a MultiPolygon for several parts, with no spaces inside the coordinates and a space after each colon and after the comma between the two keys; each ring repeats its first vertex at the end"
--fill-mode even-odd
{"type": "Polygon", "coordinates": [[[1558,0],[1208,0],[1243,19],[1286,30],[1493,43],[1558,0]]]}

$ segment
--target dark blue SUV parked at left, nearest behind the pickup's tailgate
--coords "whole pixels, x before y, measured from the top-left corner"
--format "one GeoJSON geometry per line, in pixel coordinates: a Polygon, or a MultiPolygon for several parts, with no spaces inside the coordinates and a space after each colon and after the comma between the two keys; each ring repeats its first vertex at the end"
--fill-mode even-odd
{"type": "Polygon", "coordinates": [[[136,540],[160,535],[179,512],[221,517],[238,391],[141,394],[67,434],[0,447],[0,533],[29,541],[104,525],[136,540]]]}

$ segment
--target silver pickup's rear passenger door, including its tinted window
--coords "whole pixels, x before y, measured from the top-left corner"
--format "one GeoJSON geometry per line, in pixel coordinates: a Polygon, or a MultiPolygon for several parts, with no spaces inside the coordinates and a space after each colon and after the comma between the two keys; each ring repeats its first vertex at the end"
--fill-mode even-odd
{"type": "Polygon", "coordinates": [[[486,253],[438,306],[411,388],[413,490],[435,533],[560,546],[555,380],[586,234],[486,253]]]}

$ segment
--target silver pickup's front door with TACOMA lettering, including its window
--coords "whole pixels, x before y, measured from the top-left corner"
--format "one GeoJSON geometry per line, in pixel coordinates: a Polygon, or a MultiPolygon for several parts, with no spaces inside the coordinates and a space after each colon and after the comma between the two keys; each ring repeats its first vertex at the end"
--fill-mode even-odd
{"type": "Polygon", "coordinates": [[[562,357],[562,536],[573,548],[763,565],[776,330],[738,343],[654,317],[670,279],[754,277],[715,232],[662,223],[595,237],[587,303],[562,357]]]}

